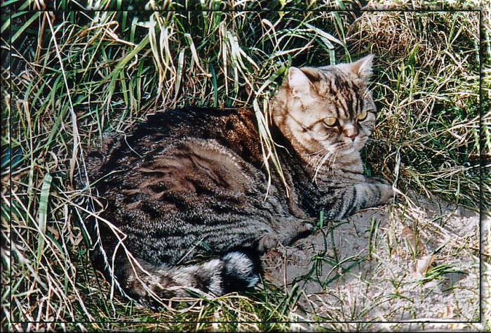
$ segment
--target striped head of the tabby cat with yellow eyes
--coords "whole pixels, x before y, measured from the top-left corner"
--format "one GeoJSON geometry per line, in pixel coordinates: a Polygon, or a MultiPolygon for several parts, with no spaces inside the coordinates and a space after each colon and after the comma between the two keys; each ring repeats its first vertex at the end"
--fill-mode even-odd
{"type": "Polygon", "coordinates": [[[354,63],[290,67],[276,93],[276,126],[302,155],[358,153],[375,125],[372,55],[354,63]]]}

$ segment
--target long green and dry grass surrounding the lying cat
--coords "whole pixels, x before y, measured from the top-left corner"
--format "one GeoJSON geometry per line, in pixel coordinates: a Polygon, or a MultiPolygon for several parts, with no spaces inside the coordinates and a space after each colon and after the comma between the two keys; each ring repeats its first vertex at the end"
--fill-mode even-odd
{"type": "MultiPolygon", "coordinates": [[[[100,8],[125,9],[123,2],[102,0],[100,8]]],[[[12,38],[11,56],[2,56],[1,68],[2,327],[292,329],[290,324],[267,321],[295,318],[292,313],[301,290],[288,294],[268,283],[243,296],[232,294],[194,306],[183,303],[182,308],[160,313],[117,296],[109,300],[109,285],[88,261],[90,244],[83,221],[90,192],[77,188],[75,182],[84,168],[84,154],[100,144],[102,133],[126,132],[149,113],[184,104],[255,110],[265,165],[281,168],[267,130],[268,101],[290,65],[329,65],[375,53],[372,89],[379,116],[373,140],[364,151],[366,171],[388,178],[403,193],[436,195],[476,208],[481,144],[485,167],[481,203],[489,208],[490,41],[484,32],[480,132],[478,13],[304,12],[288,11],[305,8],[304,1],[203,2],[204,8],[199,1],[187,5],[154,1],[150,7],[197,11],[152,13],[142,11],[146,3],[140,1],[134,5],[140,11],[67,11],[53,16],[26,11],[36,7],[25,0],[1,4],[2,10],[13,14],[1,18],[2,55],[10,45],[8,33],[12,38]],[[202,11],[266,7],[284,11],[202,11]],[[10,314],[13,321],[256,323],[36,326],[11,324],[10,314]]],[[[406,2],[384,1],[384,6],[402,8],[408,6],[406,2]]],[[[76,10],[82,3],[60,1],[57,9],[76,10]]],[[[309,4],[309,8],[321,5],[309,4]]],[[[461,1],[455,6],[475,4],[461,1]]],[[[323,8],[356,6],[358,1],[333,1],[323,8]]],[[[431,1],[427,6],[443,5],[431,1]]],[[[490,27],[489,10],[483,25],[490,27]]],[[[404,202],[403,197],[398,200],[404,202]]],[[[369,259],[340,259],[330,238],[334,227],[322,223],[326,251],[314,259],[305,279],[318,279],[327,287],[339,280],[338,268],[348,272],[362,261],[375,260],[372,255],[384,244],[389,253],[391,247],[398,247],[381,240],[384,234],[373,221],[368,230],[369,259]],[[330,263],[331,274],[318,271],[321,262],[330,263]]],[[[436,277],[448,268],[444,263],[439,267],[430,273],[436,277]]],[[[374,304],[385,301],[381,298],[374,304]]],[[[368,308],[358,313],[368,313],[368,308]]]]}

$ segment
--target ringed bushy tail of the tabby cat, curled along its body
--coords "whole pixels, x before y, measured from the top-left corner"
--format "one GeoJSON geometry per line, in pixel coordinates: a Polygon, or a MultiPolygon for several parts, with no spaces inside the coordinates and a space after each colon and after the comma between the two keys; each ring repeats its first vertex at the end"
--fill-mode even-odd
{"type": "Polygon", "coordinates": [[[138,263],[140,268],[135,263],[124,265],[121,287],[128,296],[152,308],[176,297],[203,293],[220,296],[248,289],[259,282],[260,274],[259,258],[245,251],[228,252],[217,259],[173,268],[153,266],[145,261],[138,263]]]}

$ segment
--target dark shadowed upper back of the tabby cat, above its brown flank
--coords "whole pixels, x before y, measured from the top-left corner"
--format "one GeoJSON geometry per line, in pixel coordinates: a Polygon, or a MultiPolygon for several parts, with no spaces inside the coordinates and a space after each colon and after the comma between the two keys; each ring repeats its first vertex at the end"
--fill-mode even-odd
{"type": "Polygon", "coordinates": [[[88,176],[94,181],[115,170],[135,169],[170,147],[199,140],[216,141],[224,150],[259,165],[258,138],[255,116],[247,109],[183,107],[158,112],[130,133],[107,136],[102,149],[88,155],[88,176]]]}

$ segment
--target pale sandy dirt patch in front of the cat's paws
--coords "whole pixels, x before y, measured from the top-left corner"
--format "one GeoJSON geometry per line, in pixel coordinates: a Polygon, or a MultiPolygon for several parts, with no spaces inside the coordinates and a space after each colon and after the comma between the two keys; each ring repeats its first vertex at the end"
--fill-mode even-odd
{"type": "Polygon", "coordinates": [[[297,320],[478,320],[478,211],[406,202],[264,255],[267,279],[298,296],[297,320]]]}

